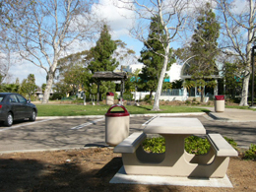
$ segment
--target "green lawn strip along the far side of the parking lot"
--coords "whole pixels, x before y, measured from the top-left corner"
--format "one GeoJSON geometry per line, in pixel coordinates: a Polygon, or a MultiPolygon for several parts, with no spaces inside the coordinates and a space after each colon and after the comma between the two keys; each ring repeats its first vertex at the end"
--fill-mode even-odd
{"type": "MultiPolygon", "coordinates": [[[[36,104],[37,116],[76,116],[76,115],[103,115],[109,105],[71,105],[71,104],[36,104]]],[[[160,111],[152,111],[151,105],[127,105],[125,106],[130,114],[147,113],[179,113],[179,112],[207,112],[205,108],[191,106],[171,106],[160,105],[160,111]]],[[[123,111],[120,107],[115,107],[112,111],[123,111]]]]}

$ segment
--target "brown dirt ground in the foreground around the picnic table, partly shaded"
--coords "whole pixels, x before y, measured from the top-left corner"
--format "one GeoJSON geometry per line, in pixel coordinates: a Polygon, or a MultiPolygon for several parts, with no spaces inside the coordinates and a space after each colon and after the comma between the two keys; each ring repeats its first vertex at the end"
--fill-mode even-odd
{"type": "Polygon", "coordinates": [[[122,166],[112,149],[92,148],[0,155],[0,191],[255,191],[256,162],[230,159],[234,188],[109,184],[122,166]]]}

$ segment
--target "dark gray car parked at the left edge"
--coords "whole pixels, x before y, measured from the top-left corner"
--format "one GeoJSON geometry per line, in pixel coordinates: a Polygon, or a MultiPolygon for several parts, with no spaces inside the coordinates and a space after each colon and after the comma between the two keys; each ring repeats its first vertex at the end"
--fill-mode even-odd
{"type": "Polygon", "coordinates": [[[24,96],[12,93],[0,93],[0,121],[12,126],[14,120],[29,118],[35,121],[37,109],[24,96]]]}

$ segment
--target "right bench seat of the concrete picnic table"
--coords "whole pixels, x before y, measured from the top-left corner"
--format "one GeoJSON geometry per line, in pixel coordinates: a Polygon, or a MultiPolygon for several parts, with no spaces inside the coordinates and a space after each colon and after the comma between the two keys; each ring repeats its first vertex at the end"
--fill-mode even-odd
{"type": "Polygon", "coordinates": [[[216,151],[217,157],[237,157],[238,153],[232,148],[221,134],[208,134],[208,141],[216,151]]]}

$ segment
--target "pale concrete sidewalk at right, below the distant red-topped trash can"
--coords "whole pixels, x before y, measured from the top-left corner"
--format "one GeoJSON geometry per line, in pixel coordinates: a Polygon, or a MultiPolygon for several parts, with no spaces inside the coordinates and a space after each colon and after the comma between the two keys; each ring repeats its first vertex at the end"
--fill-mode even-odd
{"type": "Polygon", "coordinates": [[[256,111],[237,109],[237,108],[224,108],[224,112],[215,112],[214,107],[204,107],[211,110],[209,116],[215,120],[225,122],[256,122],[256,111]]]}

